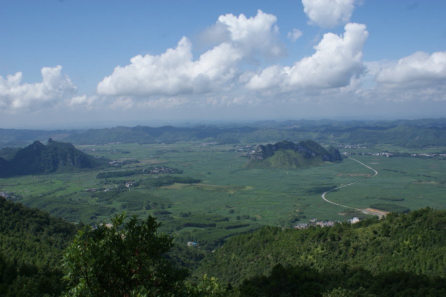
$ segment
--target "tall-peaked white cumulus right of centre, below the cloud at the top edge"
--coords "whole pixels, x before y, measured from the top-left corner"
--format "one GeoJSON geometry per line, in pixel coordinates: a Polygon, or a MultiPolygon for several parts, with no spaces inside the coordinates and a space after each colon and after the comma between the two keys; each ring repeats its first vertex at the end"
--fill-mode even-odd
{"type": "Polygon", "coordinates": [[[296,62],[293,67],[277,65],[253,75],[246,87],[264,90],[279,87],[283,90],[341,88],[365,72],[361,61],[362,48],[368,37],[365,25],[350,23],[341,36],[327,33],[314,47],[316,52],[296,62]]]}

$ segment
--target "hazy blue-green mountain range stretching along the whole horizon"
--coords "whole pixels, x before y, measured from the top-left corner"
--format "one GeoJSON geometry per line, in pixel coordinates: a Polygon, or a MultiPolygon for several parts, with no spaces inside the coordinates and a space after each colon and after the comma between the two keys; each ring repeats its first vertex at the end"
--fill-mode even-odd
{"type": "Polygon", "coordinates": [[[313,139],[324,144],[392,144],[407,148],[446,145],[446,118],[377,121],[259,121],[246,125],[194,127],[114,127],[89,130],[0,129],[0,146],[28,145],[48,138],[75,144],[171,143],[213,141],[219,144],[268,143],[313,139]]]}

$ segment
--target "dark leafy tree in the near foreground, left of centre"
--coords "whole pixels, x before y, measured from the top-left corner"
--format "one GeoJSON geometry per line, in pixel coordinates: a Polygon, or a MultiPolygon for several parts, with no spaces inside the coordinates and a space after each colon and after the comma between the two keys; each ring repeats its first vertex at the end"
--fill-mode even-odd
{"type": "Polygon", "coordinates": [[[173,238],[157,233],[160,223],[152,216],[146,220],[127,218],[124,212],[111,220],[112,226],[102,224],[78,232],[64,256],[68,269],[65,296],[187,294],[186,272],[164,257],[173,246],[173,238]]]}

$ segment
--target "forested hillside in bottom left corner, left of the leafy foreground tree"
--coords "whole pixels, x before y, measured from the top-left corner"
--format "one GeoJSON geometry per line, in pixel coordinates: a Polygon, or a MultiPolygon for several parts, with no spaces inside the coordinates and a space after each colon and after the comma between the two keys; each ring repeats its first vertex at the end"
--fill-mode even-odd
{"type": "Polygon", "coordinates": [[[0,197],[0,296],[57,295],[77,226],[0,197]]]}

